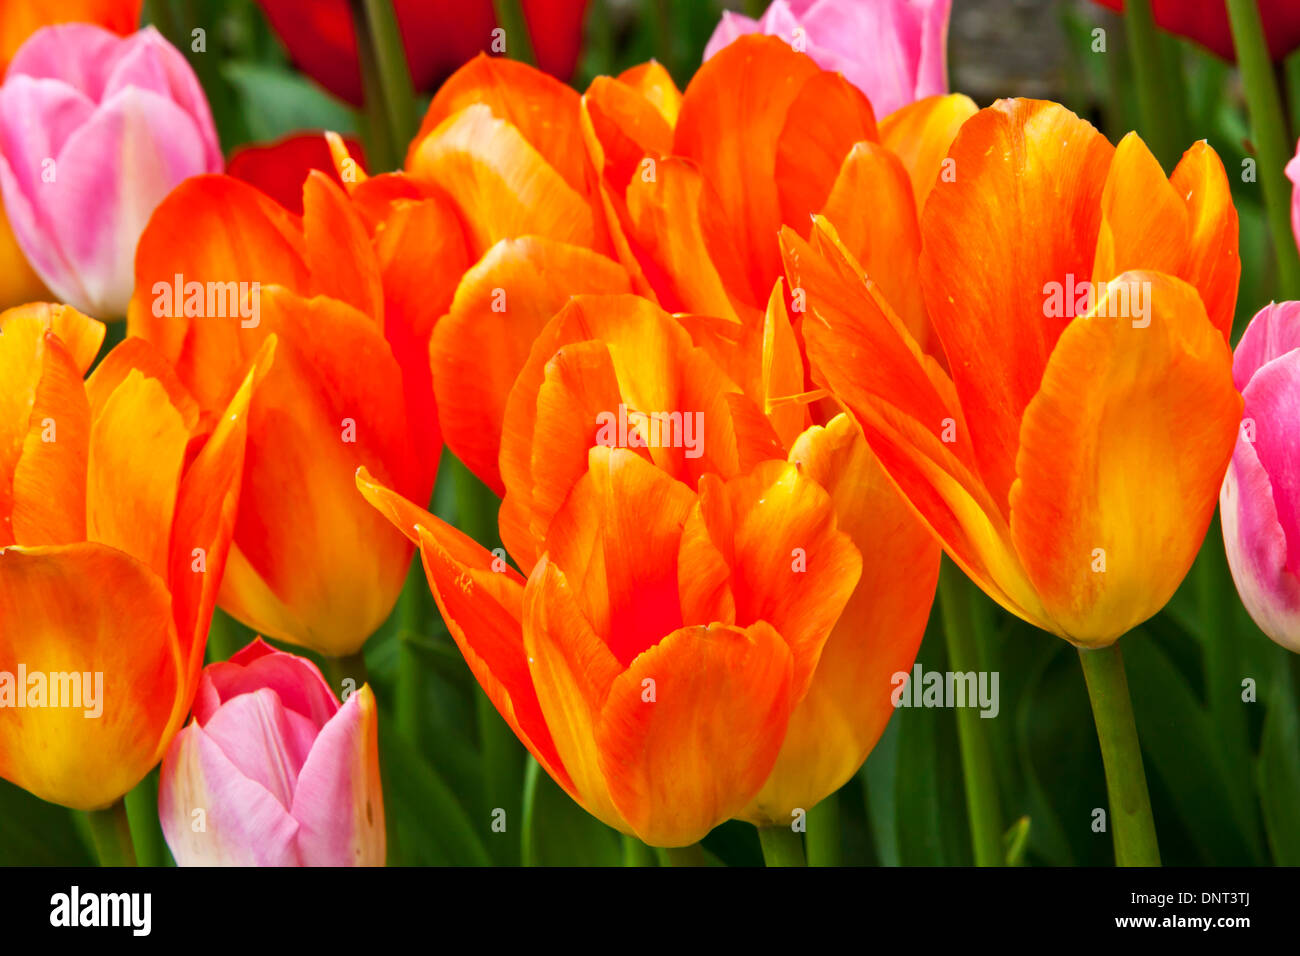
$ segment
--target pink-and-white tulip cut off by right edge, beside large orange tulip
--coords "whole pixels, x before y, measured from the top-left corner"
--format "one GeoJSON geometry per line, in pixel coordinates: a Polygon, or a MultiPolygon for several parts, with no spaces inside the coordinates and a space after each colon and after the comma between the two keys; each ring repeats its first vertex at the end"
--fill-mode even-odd
{"type": "Polygon", "coordinates": [[[1260,630],[1300,652],[1300,302],[1251,320],[1232,380],[1245,411],[1219,494],[1227,563],[1260,630]]]}

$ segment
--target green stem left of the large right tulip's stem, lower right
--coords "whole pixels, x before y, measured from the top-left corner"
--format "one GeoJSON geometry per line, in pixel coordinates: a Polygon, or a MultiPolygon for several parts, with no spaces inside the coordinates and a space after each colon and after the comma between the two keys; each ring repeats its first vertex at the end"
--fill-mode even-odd
{"type": "MultiPolygon", "coordinates": [[[[944,615],[948,666],[957,674],[980,670],[974,598],[975,585],[961,568],[944,561],[939,575],[939,602],[944,615]]],[[[976,708],[957,708],[957,736],[962,750],[962,782],[966,787],[966,813],[970,818],[975,865],[1001,866],[1006,862],[1006,853],[1002,848],[997,777],[993,773],[993,752],[976,708]]]]}

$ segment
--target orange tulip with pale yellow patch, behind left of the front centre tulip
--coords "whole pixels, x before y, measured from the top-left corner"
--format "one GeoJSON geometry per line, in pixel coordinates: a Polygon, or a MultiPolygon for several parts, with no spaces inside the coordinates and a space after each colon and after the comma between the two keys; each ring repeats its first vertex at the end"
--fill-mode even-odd
{"type": "Polygon", "coordinates": [[[500,494],[504,401],[546,321],[580,293],[630,290],[614,261],[581,148],[578,95],[480,56],[433,98],[406,178],[455,211],[465,272],[429,343],[442,434],[500,494]]]}

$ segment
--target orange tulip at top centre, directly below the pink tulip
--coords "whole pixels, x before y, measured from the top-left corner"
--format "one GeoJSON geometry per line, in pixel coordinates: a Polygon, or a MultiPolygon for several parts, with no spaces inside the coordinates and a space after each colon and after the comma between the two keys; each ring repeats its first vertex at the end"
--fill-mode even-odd
{"type": "Polygon", "coordinates": [[[684,96],[658,64],[595,79],[582,129],[641,294],[758,326],[781,274],[781,226],[806,237],[820,212],[928,345],[916,221],[974,112],[967,96],[931,96],[878,126],[841,75],[776,38],[742,36],[684,96]]]}

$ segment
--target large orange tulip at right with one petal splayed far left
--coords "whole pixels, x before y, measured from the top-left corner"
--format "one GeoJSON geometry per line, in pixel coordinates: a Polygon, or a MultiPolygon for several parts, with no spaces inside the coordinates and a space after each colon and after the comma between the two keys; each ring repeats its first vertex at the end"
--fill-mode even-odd
{"type": "Polygon", "coordinates": [[[809,356],[966,574],[1105,646],[1174,593],[1232,454],[1227,178],[1205,143],[1166,178],[1136,134],[1032,100],[980,111],[948,159],[920,276],[952,375],[824,220],[783,237],[809,356]]]}

